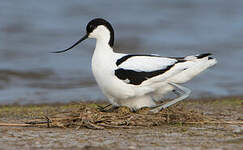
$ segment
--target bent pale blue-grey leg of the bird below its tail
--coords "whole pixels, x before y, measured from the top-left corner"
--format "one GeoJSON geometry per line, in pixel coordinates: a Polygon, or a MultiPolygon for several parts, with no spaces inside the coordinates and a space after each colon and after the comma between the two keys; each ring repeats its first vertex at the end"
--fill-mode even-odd
{"type": "Polygon", "coordinates": [[[167,108],[167,107],[169,107],[169,106],[171,106],[171,105],[173,105],[173,104],[175,104],[175,103],[177,103],[179,101],[184,100],[191,93],[191,90],[186,88],[186,87],[183,87],[183,86],[175,84],[175,83],[169,83],[169,84],[172,85],[173,87],[175,87],[175,89],[178,89],[178,90],[173,90],[173,92],[176,95],[178,95],[179,97],[177,97],[174,100],[171,100],[170,102],[168,102],[166,104],[156,106],[155,108],[151,109],[150,112],[158,113],[162,109],[165,109],[165,108],[167,108]]]}

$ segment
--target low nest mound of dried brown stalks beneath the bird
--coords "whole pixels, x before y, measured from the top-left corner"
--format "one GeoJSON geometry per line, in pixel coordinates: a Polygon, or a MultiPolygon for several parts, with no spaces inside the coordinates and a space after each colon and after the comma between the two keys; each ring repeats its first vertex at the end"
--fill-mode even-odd
{"type": "Polygon", "coordinates": [[[185,110],[180,106],[173,106],[152,114],[149,108],[143,108],[136,112],[128,107],[119,107],[112,112],[103,112],[95,104],[81,104],[80,108],[72,112],[60,112],[39,119],[25,122],[34,126],[48,127],[73,127],[89,129],[105,128],[133,128],[151,127],[162,124],[202,123],[210,120],[200,112],[185,110]]]}

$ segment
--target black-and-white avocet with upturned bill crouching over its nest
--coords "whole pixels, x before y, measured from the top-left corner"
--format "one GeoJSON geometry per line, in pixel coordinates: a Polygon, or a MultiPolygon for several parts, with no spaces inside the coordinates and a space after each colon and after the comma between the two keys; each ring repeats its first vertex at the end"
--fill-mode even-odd
{"type": "Polygon", "coordinates": [[[127,106],[131,110],[148,107],[157,113],[186,99],[191,90],[181,84],[217,63],[211,53],[163,57],[114,52],[114,30],[103,18],[92,19],[80,40],[53,53],[69,51],[88,38],[96,39],[91,63],[94,78],[113,107],[127,106]],[[169,92],[177,97],[165,104],[156,104],[169,92]]]}

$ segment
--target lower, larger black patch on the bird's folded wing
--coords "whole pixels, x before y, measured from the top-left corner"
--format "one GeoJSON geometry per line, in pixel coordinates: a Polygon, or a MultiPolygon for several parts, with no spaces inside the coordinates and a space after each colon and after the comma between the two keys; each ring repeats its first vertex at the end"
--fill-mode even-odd
{"type": "Polygon", "coordinates": [[[150,71],[150,72],[137,72],[134,70],[128,70],[128,69],[123,69],[119,68],[115,70],[115,75],[117,78],[121,80],[128,80],[128,84],[133,84],[133,85],[140,85],[143,81],[150,79],[152,77],[161,75],[165,73],[166,71],[170,70],[175,64],[167,66],[165,69],[161,70],[156,70],[156,71],[150,71]]]}

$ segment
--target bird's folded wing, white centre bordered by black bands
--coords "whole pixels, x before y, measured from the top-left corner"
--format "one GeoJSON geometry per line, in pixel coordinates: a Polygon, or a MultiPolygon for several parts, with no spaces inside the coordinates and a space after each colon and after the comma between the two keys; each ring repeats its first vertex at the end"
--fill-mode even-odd
{"type": "Polygon", "coordinates": [[[127,84],[140,85],[151,78],[162,77],[181,61],[157,55],[125,55],[117,60],[115,75],[127,84]]]}

